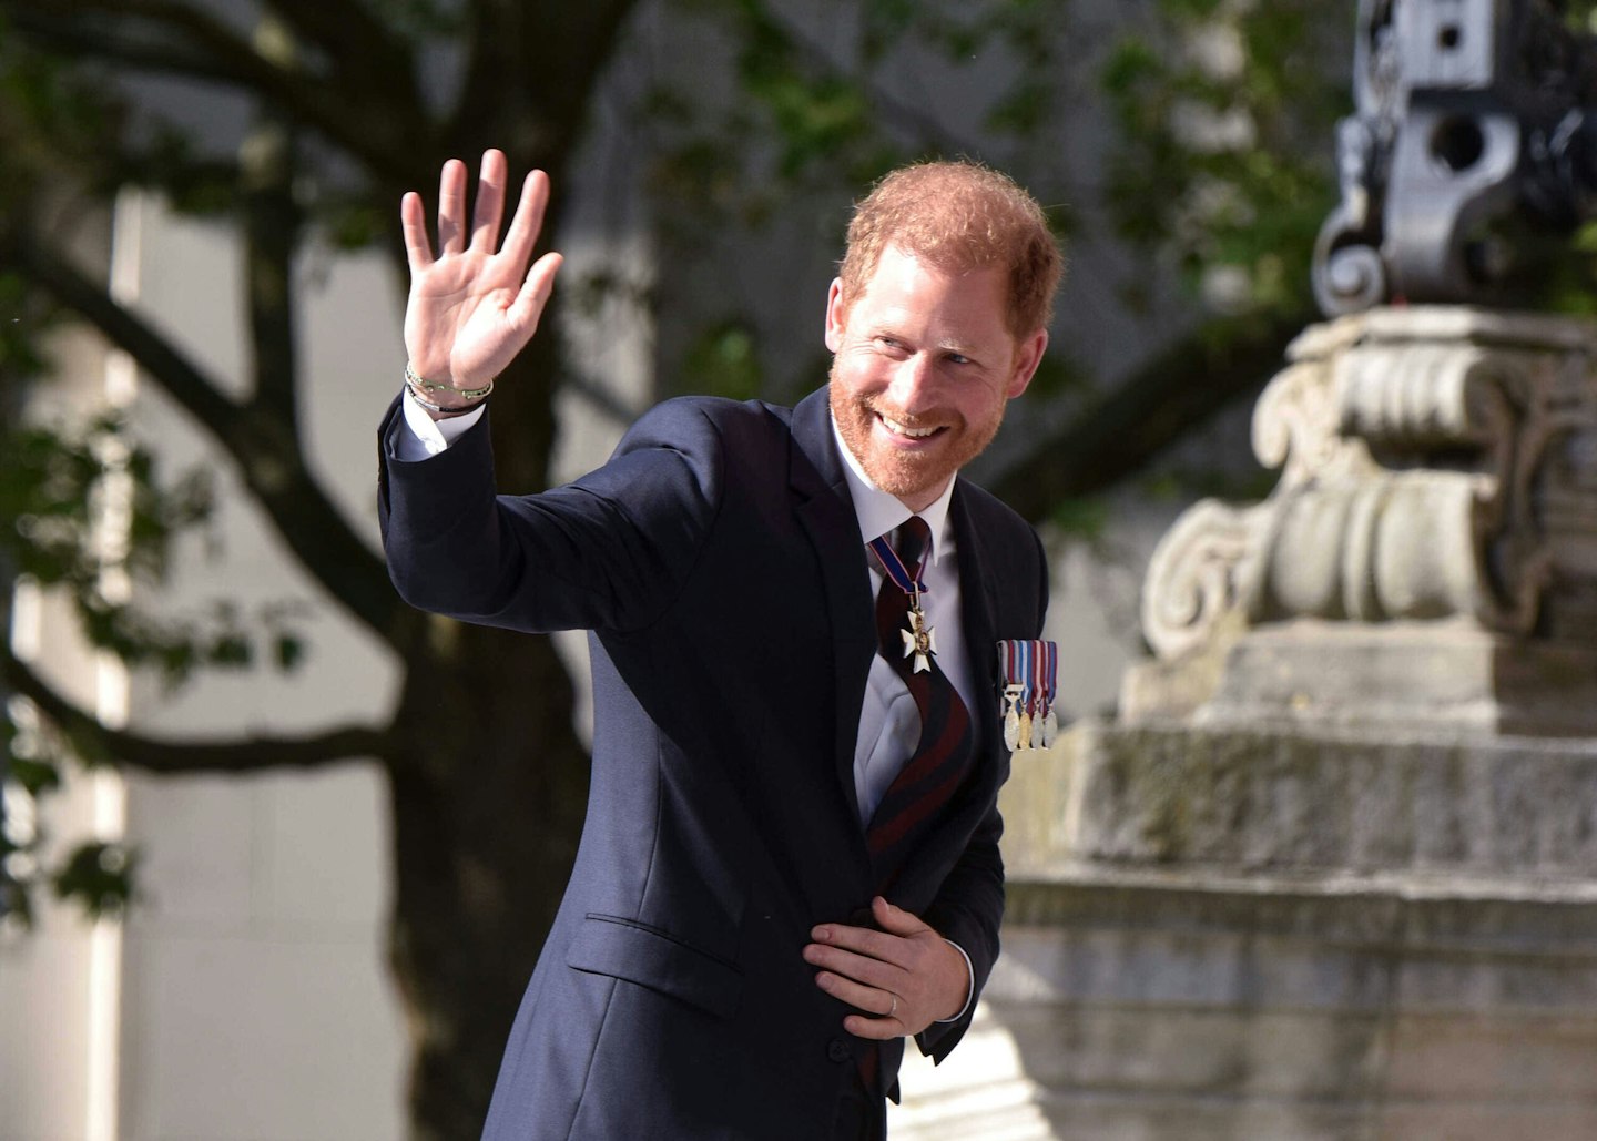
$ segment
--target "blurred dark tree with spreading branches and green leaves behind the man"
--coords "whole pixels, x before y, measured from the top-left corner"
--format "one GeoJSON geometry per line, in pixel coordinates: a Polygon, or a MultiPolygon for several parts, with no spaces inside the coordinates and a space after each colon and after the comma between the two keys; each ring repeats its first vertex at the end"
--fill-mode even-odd
{"type": "MultiPolygon", "coordinates": [[[[59,785],[67,756],[153,772],[375,758],[391,793],[390,959],[414,1036],[418,1138],[481,1127],[575,852],[588,758],[549,642],[407,610],[318,485],[299,423],[292,271],[310,243],[377,244],[402,281],[401,193],[430,190],[446,158],[487,145],[505,148],[513,171],[543,168],[559,191],[615,61],[650,61],[639,48],[660,27],[640,27],[648,8],[717,46],[714,67],[655,59],[647,80],[628,86],[628,115],[648,124],[663,247],[685,251],[706,233],[735,241],[773,217],[813,212],[905,156],[973,153],[1012,169],[1046,203],[1070,201],[1057,222],[1078,251],[1129,246],[1124,279],[1104,282],[1116,303],[1153,311],[1161,281],[1187,281],[1182,332],[1124,375],[1092,378],[1052,359],[1041,391],[1059,401],[1060,426],[1000,487],[1032,519],[1092,514],[1081,498],[1260,385],[1308,318],[1308,251],[1332,201],[1329,124],[1346,104],[1351,5],[1142,0],[1102,5],[1089,19],[1076,14],[1089,8],[1080,0],[661,3],[663,18],[636,0],[0,0],[0,407],[14,413],[26,386],[48,383],[45,334],[62,321],[96,329],[236,464],[303,571],[404,672],[386,723],[163,740],[101,726],[6,649],[5,685],[26,701],[11,701],[3,740],[11,801],[0,910],[29,914],[46,882],[93,911],[126,898],[126,852],[83,846],[65,867],[43,868],[37,836],[10,827],[11,809],[59,785]],[[834,34],[806,34],[814,27],[834,34]],[[963,124],[893,80],[909,73],[933,89],[965,81],[971,67],[982,70],[984,102],[963,124]],[[219,144],[152,110],[141,86],[150,80],[241,109],[219,115],[236,129],[219,144]],[[1091,152],[1065,153],[1059,134],[1078,105],[1112,113],[1099,185],[1080,176],[1091,152]],[[129,187],[236,235],[248,383],[212,375],[80,259],[85,211],[129,187]],[[517,699],[495,701],[503,693],[517,699]],[[532,758],[527,742],[537,742],[532,758]]],[[[615,287],[564,282],[556,300],[615,287]]],[[[1062,314],[1056,343],[1070,342],[1072,319],[1062,314]]],[[[680,377],[668,369],[663,391],[773,388],[757,330],[738,319],[690,334],[671,364],[680,377]]],[[[624,413],[556,335],[540,335],[495,396],[505,487],[548,484],[562,386],[624,413]]],[[[206,480],[163,472],[115,413],[61,426],[6,417],[0,570],[70,592],[94,645],[174,681],[203,667],[291,669],[305,653],[292,611],[222,605],[172,616],[149,603],[174,538],[211,509],[206,480]],[[97,523],[109,487],[121,488],[126,543],[107,544],[97,523]]]]}

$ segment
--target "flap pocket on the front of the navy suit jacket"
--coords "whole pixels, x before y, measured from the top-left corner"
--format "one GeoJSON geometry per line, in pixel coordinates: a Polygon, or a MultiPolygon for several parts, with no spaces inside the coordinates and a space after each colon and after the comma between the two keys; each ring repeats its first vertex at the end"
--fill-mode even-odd
{"type": "Polygon", "coordinates": [[[565,964],[669,994],[717,1018],[731,1018],[743,999],[743,975],[736,969],[620,916],[588,914],[565,964]]]}

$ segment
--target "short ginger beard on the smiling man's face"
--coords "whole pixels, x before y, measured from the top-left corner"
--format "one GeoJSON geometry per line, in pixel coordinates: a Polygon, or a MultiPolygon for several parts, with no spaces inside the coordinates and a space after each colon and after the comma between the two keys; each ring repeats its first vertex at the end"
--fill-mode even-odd
{"type": "Polygon", "coordinates": [[[987,450],[1003,423],[1003,404],[990,420],[973,423],[952,409],[933,409],[910,417],[880,397],[856,397],[837,378],[835,362],[829,399],[838,436],[859,460],[866,476],[888,495],[905,501],[936,499],[960,468],[987,450]],[[882,417],[905,428],[936,424],[941,431],[925,447],[898,448],[875,436],[882,417]]]}

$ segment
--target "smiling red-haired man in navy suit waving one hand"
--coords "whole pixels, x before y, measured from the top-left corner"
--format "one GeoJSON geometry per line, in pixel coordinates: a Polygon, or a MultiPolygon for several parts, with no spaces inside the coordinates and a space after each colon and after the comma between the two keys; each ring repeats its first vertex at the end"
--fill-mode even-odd
{"type": "Polygon", "coordinates": [[[904,1036],[941,1061],[998,953],[995,645],[1038,637],[1048,573],[957,472],[1043,356],[1057,246],[1000,174],[899,171],[850,227],[826,389],[669,401],[497,498],[482,405],[561,263],[527,268],[540,172],[495,249],[505,185],[489,152],[468,235],[446,164],[436,255],[404,199],[380,493],[414,605],[591,630],[588,822],[485,1136],[885,1136],[904,1036]]]}

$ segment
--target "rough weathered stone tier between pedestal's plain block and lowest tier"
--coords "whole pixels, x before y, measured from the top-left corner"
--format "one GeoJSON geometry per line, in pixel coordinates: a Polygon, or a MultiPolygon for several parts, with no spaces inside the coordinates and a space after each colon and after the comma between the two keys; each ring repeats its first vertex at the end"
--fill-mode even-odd
{"type": "Polygon", "coordinates": [[[1012,868],[1597,879],[1597,740],[1083,721],[1017,753],[1012,868]]]}

